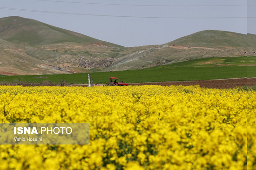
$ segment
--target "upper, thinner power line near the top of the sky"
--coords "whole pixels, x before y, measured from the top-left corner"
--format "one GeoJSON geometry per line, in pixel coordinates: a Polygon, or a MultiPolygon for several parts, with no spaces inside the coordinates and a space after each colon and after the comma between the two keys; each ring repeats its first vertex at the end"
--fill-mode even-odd
{"type": "MultiPolygon", "coordinates": [[[[60,0],[38,0],[38,1],[48,1],[48,2],[64,2],[73,4],[94,4],[94,5],[115,5],[115,6],[247,6],[242,5],[135,5],[135,4],[105,4],[105,3],[90,3],[90,2],[71,2],[71,1],[60,1],[60,0]]],[[[251,5],[255,6],[255,5],[251,5]]]]}

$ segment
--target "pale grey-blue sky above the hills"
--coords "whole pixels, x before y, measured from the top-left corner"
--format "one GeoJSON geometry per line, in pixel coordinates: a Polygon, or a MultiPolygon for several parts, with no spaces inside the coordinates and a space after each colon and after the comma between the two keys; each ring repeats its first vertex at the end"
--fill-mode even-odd
{"type": "Polygon", "coordinates": [[[249,33],[256,34],[256,19],[246,18],[247,15],[248,17],[256,17],[256,10],[254,10],[256,6],[247,6],[247,3],[256,5],[256,0],[248,0],[248,2],[247,0],[52,1],[0,0],[0,18],[8,16],[20,16],[29,19],[35,19],[49,25],[54,25],[70,31],[79,32],[93,38],[123,45],[126,47],[164,44],[177,38],[181,38],[183,36],[203,30],[222,30],[243,34],[246,34],[248,30],[249,33]],[[102,3],[122,5],[104,5],[102,3]],[[38,13],[11,9],[7,10],[3,8],[61,13],[160,18],[127,18],[60,13],[38,13]],[[175,17],[210,19],[172,19],[175,17]]]}

